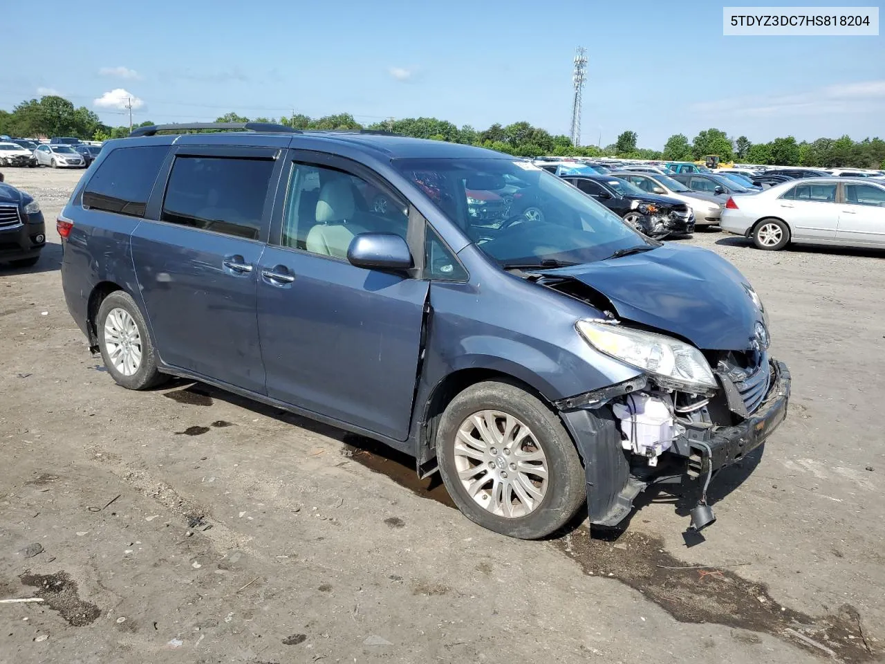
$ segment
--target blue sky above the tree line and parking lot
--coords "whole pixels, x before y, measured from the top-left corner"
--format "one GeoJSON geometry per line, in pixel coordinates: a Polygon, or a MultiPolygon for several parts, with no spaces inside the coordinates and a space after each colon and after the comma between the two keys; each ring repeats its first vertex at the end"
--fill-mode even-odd
{"type": "Polygon", "coordinates": [[[113,125],[127,123],[119,100],[128,94],[136,121],[294,109],[350,112],[364,123],[427,115],[485,128],[527,120],[567,134],[580,45],[589,51],[585,144],[600,134],[613,143],[625,129],[658,149],[669,135],[690,140],[707,127],[753,142],[885,136],[885,37],[726,37],[723,4],[708,0],[252,6],[10,3],[4,24],[34,48],[5,50],[0,108],[54,90],[113,125]]]}

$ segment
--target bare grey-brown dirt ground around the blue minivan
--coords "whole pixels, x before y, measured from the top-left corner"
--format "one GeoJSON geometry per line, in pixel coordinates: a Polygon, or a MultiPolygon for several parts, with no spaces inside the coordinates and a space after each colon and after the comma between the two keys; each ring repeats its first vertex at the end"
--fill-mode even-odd
{"type": "Polygon", "coordinates": [[[4,174],[50,245],[0,267],[0,598],[43,599],[0,604],[0,662],[882,660],[885,252],[681,240],[763,298],[788,420],[718,478],[703,543],[666,494],[620,531],[521,542],[337,429],[116,387],[60,288],[81,172],[4,174]]]}

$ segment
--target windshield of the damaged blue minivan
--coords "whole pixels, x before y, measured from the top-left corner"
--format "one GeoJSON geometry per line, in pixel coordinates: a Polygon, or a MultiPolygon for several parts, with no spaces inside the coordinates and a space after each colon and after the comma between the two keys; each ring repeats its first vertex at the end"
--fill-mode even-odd
{"type": "Polygon", "coordinates": [[[481,251],[501,266],[589,263],[649,243],[620,217],[566,181],[526,161],[396,159],[396,169],[481,251]],[[519,181],[499,205],[476,205],[519,181]],[[469,197],[468,197],[469,192],[469,197]]]}

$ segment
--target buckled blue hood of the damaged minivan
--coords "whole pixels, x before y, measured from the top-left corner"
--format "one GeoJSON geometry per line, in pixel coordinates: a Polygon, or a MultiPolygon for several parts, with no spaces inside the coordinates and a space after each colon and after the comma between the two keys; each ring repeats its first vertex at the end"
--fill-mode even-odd
{"type": "Polygon", "coordinates": [[[743,274],[699,247],[666,244],[547,274],[569,275],[607,297],[620,318],[681,336],[703,350],[747,350],[763,319],[743,274]]]}

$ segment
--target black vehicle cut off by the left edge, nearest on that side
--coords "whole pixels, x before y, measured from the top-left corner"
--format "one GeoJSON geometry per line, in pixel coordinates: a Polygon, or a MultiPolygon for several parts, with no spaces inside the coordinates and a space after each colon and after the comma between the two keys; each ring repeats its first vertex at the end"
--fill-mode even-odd
{"type": "Polygon", "coordinates": [[[46,226],[40,205],[25,191],[0,178],[0,262],[30,267],[46,244],[46,226]]]}

